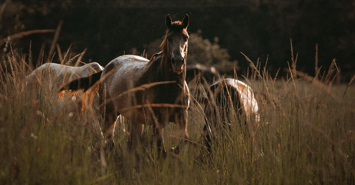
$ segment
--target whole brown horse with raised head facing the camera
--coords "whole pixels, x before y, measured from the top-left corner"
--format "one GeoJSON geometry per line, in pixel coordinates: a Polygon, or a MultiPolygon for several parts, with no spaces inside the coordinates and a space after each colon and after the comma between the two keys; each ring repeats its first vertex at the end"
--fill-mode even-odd
{"type": "MultiPolygon", "coordinates": [[[[165,17],[168,32],[162,43],[163,51],[150,60],[133,55],[115,58],[97,74],[64,84],[62,89],[87,89],[97,80],[100,111],[104,118],[106,146],[112,147],[115,120],[123,115],[130,120],[129,149],[135,149],[143,125],[153,125],[157,148],[165,155],[163,128],[174,122],[180,135],[187,138],[187,108],[189,89],[185,82],[189,16],[182,22],[165,17]],[[100,78],[98,78],[100,76],[100,78]],[[91,81],[90,81],[91,79],[91,81]]],[[[175,149],[179,153],[179,149],[175,149]]]]}

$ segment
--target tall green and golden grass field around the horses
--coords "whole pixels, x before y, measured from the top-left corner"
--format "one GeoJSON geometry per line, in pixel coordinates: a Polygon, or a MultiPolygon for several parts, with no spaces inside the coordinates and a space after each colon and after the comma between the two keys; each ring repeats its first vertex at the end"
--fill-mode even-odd
{"type": "MultiPolygon", "coordinates": [[[[354,85],[295,76],[274,81],[260,71],[247,82],[256,91],[260,123],[231,124],[230,131],[216,127],[209,155],[200,141],[204,104],[196,103],[188,118],[189,139],[196,143],[188,141],[178,158],[171,152],[158,158],[146,126],[136,165],[123,129],[129,131],[129,121],[116,128],[116,145],[104,161],[102,118],[95,110],[73,121],[65,106],[54,109],[50,93],[38,90],[36,98],[24,88],[23,58],[1,62],[10,70],[0,71],[0,184],[355,183],[354,85]]],[[[181,144],[175,131],[173,123],[164,129],[166,149],[181,144]]]]}

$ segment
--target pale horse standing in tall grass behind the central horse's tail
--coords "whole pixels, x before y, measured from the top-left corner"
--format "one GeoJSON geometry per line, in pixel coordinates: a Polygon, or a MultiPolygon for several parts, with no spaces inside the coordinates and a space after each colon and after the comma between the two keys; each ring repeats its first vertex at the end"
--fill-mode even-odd
{"type": "Polygon", "coordinates": [[[79,113],[83,109],[83,93],[68,94],[59,98],[60,86],[73,79],[88,76],[103,69],[96,62],[81,67],[45,63],[26,77],[26,88],[28,88],[29,93],[35,93],[36,99],[40,99],[41,93],[44,95],[45,100],[49,101],[54,117],[58,117],[64,107],[68,108],[70,117],[72,117],[73,114],[79,113]]]}

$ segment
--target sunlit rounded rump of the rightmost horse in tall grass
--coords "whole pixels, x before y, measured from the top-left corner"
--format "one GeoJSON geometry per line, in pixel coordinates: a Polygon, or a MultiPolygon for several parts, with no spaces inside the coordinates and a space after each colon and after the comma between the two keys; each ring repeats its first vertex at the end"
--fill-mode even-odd
{"type": "MultiPolygon", "coordinates": [[[[211,144],[216,134],[227,138],[224,134],[231,133],[233,125],[241,129],[241,132],[252,134],[255,127],[253,123],[258,125],[260,122],[253,89],[244,82],[235,79],[218,81],[209,87],[207,98],[203,137],[209,153],[212,151],[211,144]],[[236,123],[239,125],[235,125],[236,123]]],[[[216,144],[217,142],[218,140],[215,140],[216,144]]]]}

